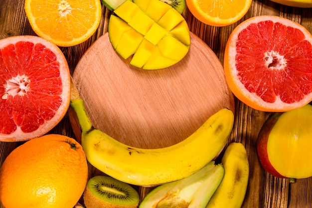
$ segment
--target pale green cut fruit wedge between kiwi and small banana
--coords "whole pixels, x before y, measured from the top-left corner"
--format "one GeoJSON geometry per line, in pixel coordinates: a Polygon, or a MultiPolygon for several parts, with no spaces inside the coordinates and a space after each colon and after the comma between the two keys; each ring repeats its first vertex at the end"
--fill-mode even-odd
{"type": "Polygon", "coordinates": [[[156,187],[139,208],[205,208],[223,176],[223,166],[211,161],[187,178],[156,187]]]}

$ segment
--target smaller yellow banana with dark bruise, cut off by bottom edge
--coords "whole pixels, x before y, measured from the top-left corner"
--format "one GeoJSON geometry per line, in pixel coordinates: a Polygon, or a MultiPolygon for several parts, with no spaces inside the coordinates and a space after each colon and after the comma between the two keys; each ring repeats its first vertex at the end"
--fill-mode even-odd
{"type": "Polygon", "coordinates": [[[224,177],[206,208],[240,208],[245,199],[249,163],[245,147],[231,143],[222,157],[224,177]]]}

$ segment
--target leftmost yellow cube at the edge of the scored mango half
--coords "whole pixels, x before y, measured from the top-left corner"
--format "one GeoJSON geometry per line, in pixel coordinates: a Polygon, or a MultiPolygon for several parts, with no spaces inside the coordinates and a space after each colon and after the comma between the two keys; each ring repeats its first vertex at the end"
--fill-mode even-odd
{"type": "Polygon", "coordinates": [[[111,15],[110,18],[111,24],[114,24],[114,27],[109,27],[109,38],[112,43],[112,46],[116,49],[121,37],[126,31],[129,31],[132,29],[130,25],[127,24],[127,22],[123,21],[121,18],[111,15]]]}

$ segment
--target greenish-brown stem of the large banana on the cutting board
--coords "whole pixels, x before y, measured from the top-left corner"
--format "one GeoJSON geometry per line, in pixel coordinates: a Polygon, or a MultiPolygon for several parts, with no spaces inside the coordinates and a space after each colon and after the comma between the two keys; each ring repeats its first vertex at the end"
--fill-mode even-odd
{"type": "Polygon", "coordinates": [[[76,84],[71,77],[70,106],[74,109],[82,132],[93,129],[93,125],[88,117],[83,100],[79,96],[76,84]]]}

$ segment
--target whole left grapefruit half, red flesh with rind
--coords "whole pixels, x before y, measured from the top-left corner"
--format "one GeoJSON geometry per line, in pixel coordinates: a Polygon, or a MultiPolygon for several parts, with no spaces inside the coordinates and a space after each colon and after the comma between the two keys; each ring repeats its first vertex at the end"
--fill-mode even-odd
{"type": "Polygon", "coordinates": [[[64,117],[70,72],[62,51],[37,36],[0,40],[0,141],[39,137],[64,117]]]}

